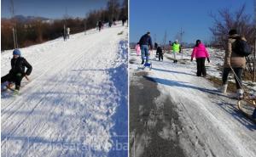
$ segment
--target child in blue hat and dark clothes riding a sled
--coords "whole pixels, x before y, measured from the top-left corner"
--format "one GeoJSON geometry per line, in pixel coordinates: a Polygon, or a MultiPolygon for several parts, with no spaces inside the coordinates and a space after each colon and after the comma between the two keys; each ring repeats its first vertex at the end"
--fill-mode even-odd
{"type": "MultiPolygon", "coordinates": [[[[9,74],[1,77],[1,84],[8,81],[9,85],[12,82],[15,82],[15,92],[19,92],[20,90],[20,82],[22,78],[25,76],[29,76],[32,72],[32,65],[29,64],[26,59],[20,57],[21,53],[19,49],[15,49],[13,51],[13,59],[11,59],[11,70],[9,70],[9,74]],[[26,71],[25,71],[26,68],[26,71]]],[[[28,78],[27,78],[28,79],[28,78]]],[[[9,86],[7,85],[7,86],[9,86]]]]}

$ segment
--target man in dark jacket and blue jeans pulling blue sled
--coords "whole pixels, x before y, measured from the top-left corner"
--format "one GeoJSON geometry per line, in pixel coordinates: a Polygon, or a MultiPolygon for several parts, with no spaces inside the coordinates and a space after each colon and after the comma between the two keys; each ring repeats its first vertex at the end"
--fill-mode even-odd
{"type": "Polygon", "coordinates": [[[153,49],[152,39],[149,31],[141,37],[139,43],[142,51],[142,64],[144,64],[144,57],[146,57],[146,63],[148,63],[149,47],[150,49],[153,49]]]}

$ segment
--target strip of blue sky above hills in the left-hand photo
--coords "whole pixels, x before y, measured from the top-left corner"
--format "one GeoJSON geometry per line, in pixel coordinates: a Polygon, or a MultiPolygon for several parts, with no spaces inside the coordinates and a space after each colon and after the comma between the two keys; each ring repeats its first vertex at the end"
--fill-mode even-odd
{"type": "MultiPolygon", "coordinates": [[[[84,17],[93,9],[106,8],[108,0],[14,0],[15,14],[60,19],[66,13],[84,17]]],[[[10,17],[9,0],[1,0],[1,17],[10,17]]]]}

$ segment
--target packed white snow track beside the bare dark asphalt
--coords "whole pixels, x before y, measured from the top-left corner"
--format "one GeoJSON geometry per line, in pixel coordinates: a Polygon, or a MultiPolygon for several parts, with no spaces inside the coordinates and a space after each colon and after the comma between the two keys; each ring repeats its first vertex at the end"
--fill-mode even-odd
{"type": "MultiPolygon", "coordinates": [[[[130,56],[135,63],[130,69],[141,71],[137,69],[140,56],[134,51],[130,56]]],[[[145,70],[146,78],[158,83],[161,95],[155,99],[171,98],[183,124],[183,128],[177,128],[168,121],[159,135],[178,137],[188,156],[256,156],[256,126],[239,113],[235,100],[218,94],[207,79],[195,76],[196,65],[191,69],[187,64],[173,64],[165,58],[164,62],[153,61],[153,69],[145,70]]]]}

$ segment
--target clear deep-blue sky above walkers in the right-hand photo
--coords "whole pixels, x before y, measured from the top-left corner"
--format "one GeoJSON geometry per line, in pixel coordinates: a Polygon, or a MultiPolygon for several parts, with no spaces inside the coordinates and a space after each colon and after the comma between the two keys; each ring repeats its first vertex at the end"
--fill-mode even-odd
{"type": "Polygon", "coordinates": [[[181,28],[184,42],[209,41],[213,23],[209,13],[218,14],[223,8],[234,11],[243,3],[253,16],[253,0],[130,0],[130,42],[138,42],[147,31],[157,42],[163,41],[166,31],[167,41],[173,41],[181,28]]]}

